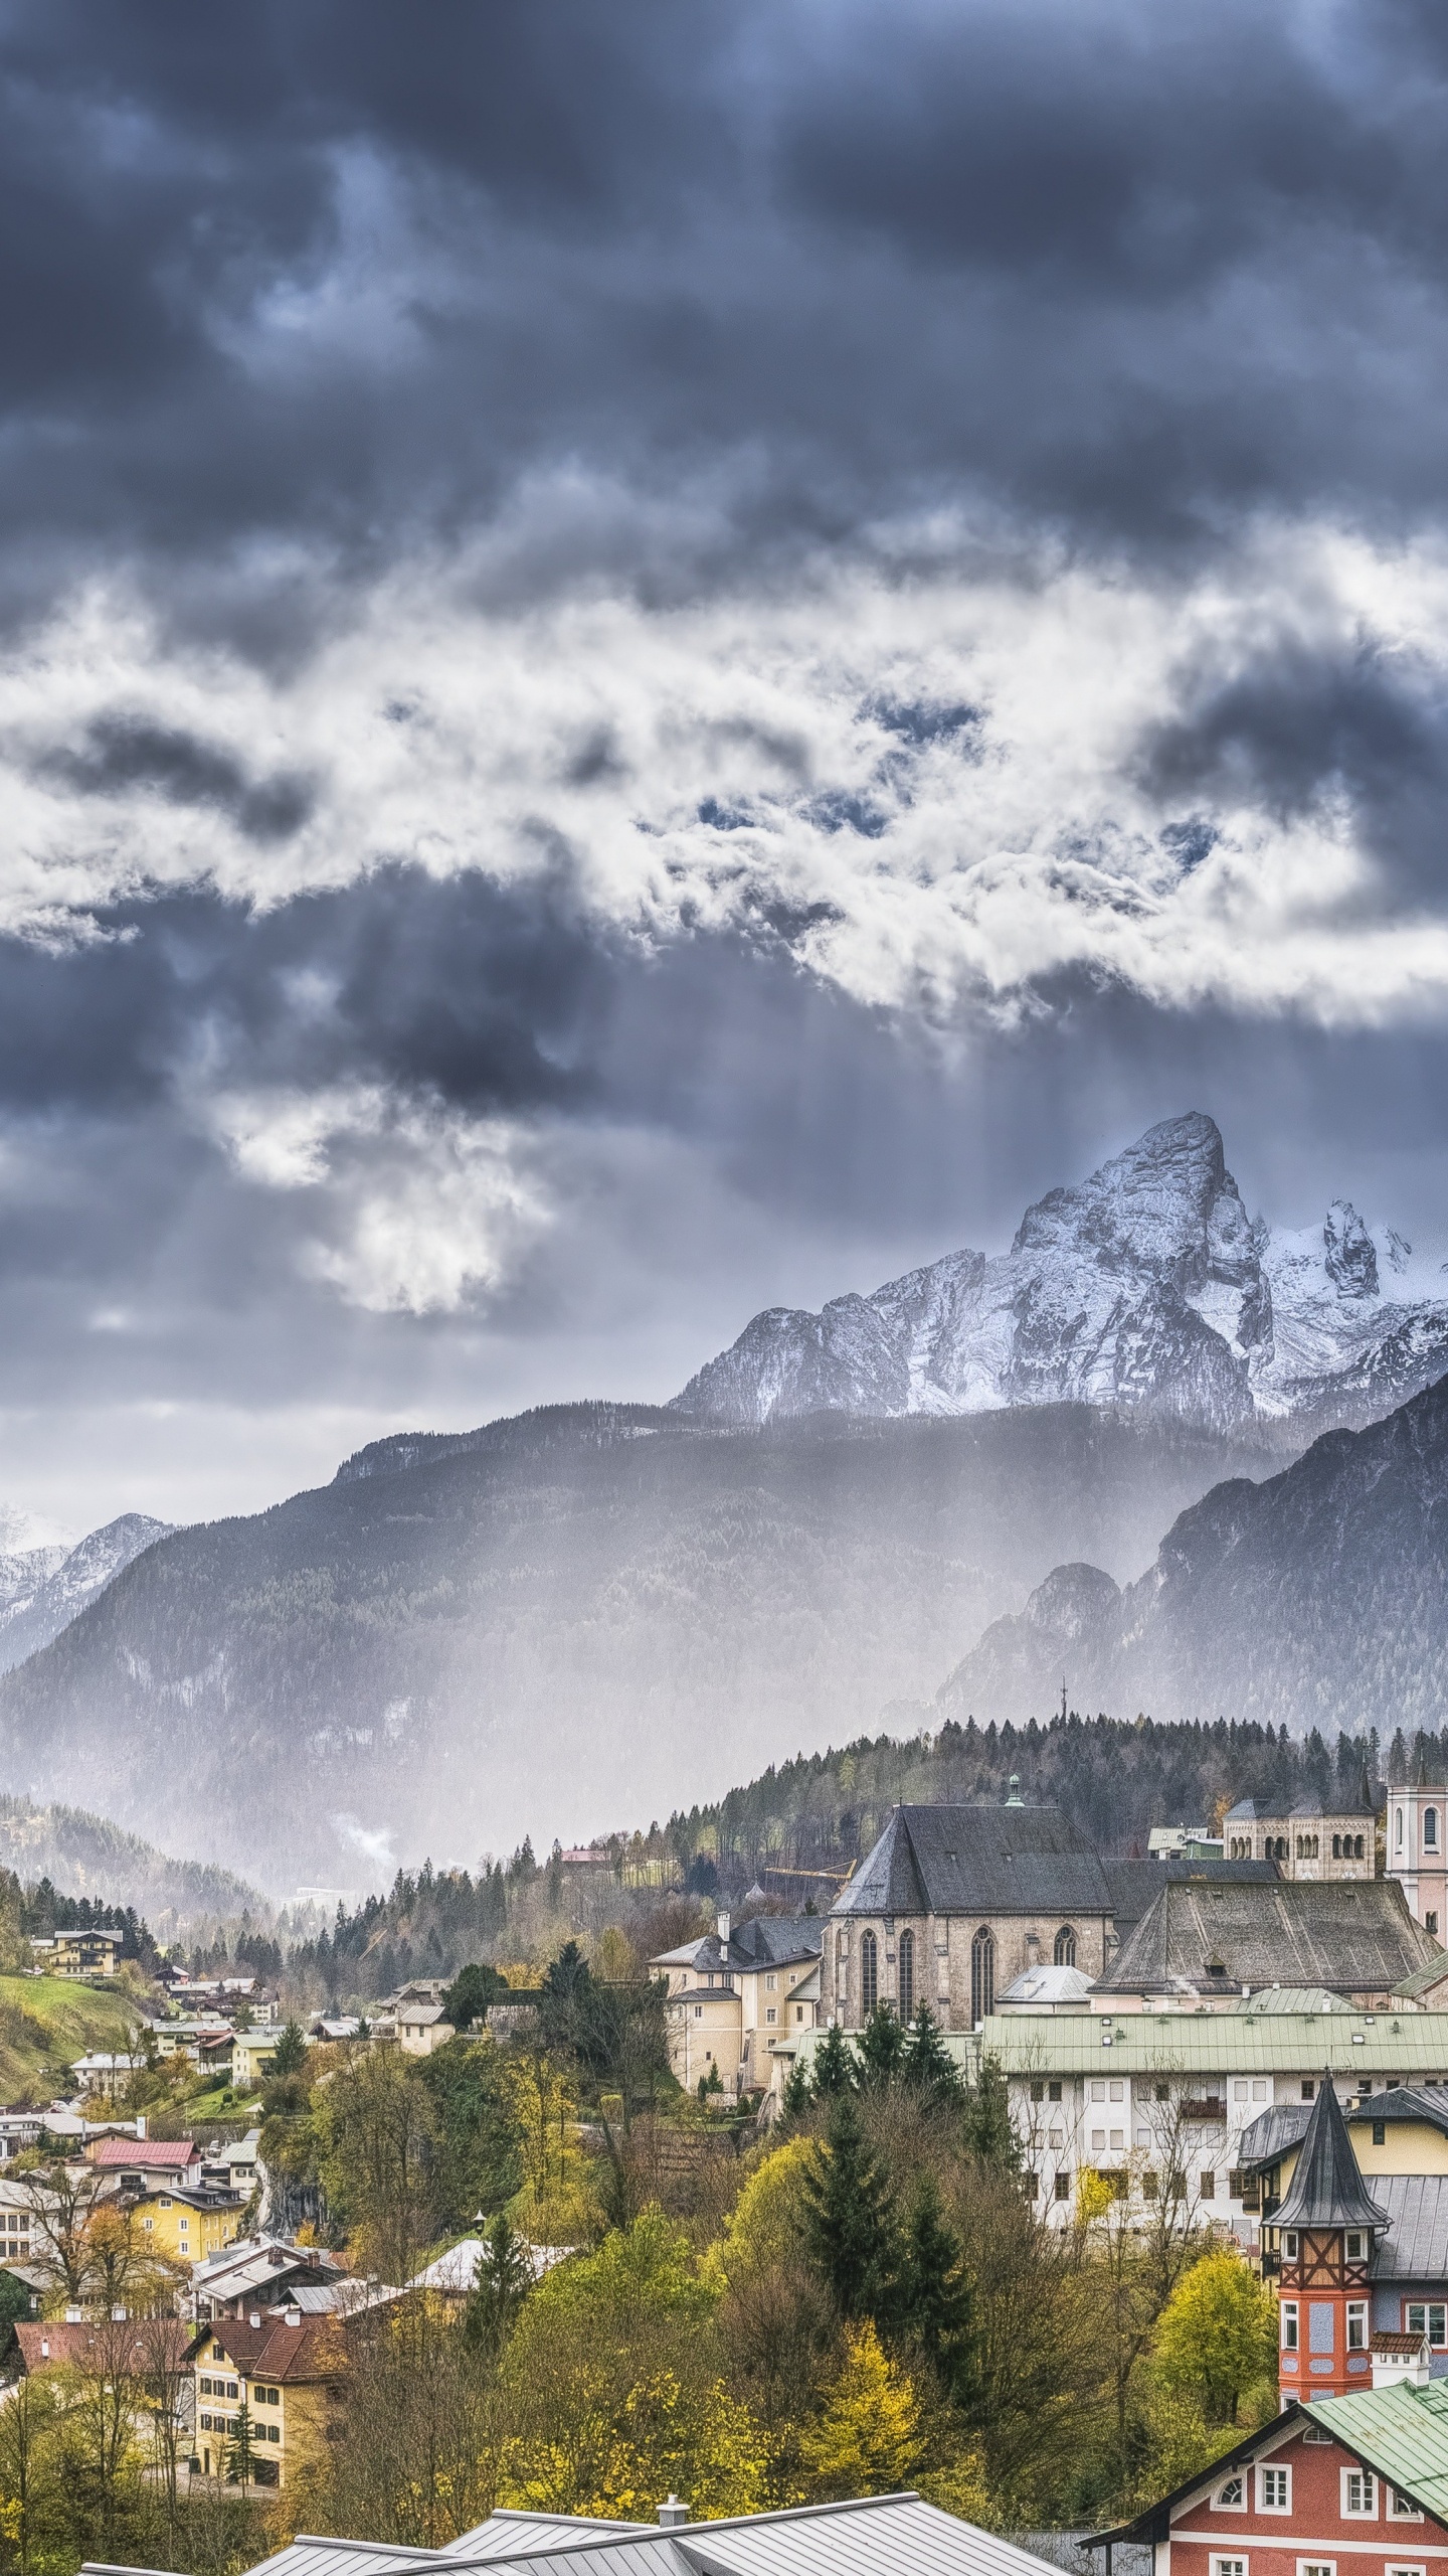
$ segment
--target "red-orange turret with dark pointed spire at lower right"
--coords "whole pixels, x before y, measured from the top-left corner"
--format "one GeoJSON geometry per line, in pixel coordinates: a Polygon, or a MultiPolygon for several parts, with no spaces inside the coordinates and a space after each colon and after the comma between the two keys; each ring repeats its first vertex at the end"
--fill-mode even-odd
{"type": "Polygon", "coordinates": [[[1368,2267],[1389,2213],[1368,2200],[1332,2076],[1324,2074],[1288,2182],[1262,2244],[1281,2257],[1278,2388],[1288,2398],[1342,2398],[1373,2385],[1368,2267]]]}

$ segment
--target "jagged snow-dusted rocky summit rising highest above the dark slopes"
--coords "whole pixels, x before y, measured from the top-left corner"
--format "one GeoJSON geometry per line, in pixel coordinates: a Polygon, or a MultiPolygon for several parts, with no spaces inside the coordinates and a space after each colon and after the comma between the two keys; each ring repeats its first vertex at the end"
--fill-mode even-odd
{"type": "Polygon", "coordinates": [[[1025,1211],[1007,1255],[948,1252],[822,1314],[770,1306],[675,1396],[711,1422],[1105,1404],[1208,1430],[1366,1422],[1448,1368],[1448,1296],[1345,1200],[1250,1218],[1193,1110],[1025,1211]],[[1384,1285],[1389,1273],[1391,1285],[1384,1285]]]}

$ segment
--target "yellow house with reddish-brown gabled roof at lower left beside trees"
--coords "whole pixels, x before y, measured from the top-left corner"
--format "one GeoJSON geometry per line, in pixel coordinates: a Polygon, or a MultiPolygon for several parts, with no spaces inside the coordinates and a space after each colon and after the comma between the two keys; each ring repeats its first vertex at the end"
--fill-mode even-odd
{"type": "Polygon", "coordinates": [[[289,2486],[319,2458],[332,2393],[345,2370],[338,2321],[296,2308],[252,2308],[204,2326],[191,2344],[196,2372],[196,2465],[222,2478],[250,2419],[252,2486],[289,2486]]]}

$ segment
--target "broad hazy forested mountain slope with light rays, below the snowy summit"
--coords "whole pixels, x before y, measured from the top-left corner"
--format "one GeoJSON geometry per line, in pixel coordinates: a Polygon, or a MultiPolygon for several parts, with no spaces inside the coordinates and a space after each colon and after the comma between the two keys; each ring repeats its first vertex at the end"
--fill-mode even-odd
{"type": "Polygon", "coordinates": [[[474,1862],[873,1728],[1056,1558],[1129,1577],[1270,1466],[1260,1435],[1090,1406],[755,1432],[557,1406],[389,1440],[147,1548],[0,1680],[0,1777],[82,1777],[278,1893],[386,1850],[474,1862]]]}

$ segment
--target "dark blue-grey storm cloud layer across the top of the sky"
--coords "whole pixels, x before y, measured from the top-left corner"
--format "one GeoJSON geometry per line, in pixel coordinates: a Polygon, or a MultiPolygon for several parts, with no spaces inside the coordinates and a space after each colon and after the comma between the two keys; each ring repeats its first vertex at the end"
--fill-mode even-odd
{"type": "Polygon", "coordinates": [[[13,8],[10,531],[368,556],[580,453],[732,459],[752,549],[961,479],[1131,538],[1433,505],[1440,49],[1391,8],[13,8]]]}

